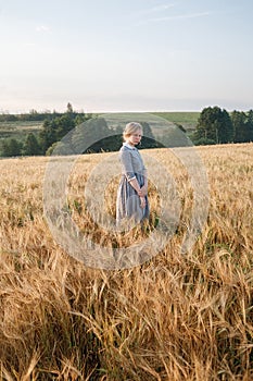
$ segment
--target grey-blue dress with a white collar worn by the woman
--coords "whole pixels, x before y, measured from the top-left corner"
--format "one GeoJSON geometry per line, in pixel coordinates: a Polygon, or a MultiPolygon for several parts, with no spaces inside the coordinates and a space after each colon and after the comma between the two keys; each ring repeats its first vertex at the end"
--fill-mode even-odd
{"type": "Polygon", "coordinates": [[[140,207],[140,197],[129,181],[135,179],[140,187],[144,185],[146,167],[136,147],[124,143],[119,150],[122,163],[122,179],[117,189],[116,223],[123,225],[131,219],[135,223],[149,218],[149,202],[146,196],[146,207],[140,207]]]}

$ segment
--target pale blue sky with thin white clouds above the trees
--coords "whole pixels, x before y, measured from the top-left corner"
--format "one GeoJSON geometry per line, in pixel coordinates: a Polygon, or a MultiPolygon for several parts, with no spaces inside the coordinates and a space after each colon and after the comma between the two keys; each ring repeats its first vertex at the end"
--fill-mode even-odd
{"type": "Polygon", "coordinates": [[[0,112],[253,108],[252,0],[0,0],[0,112]]]}

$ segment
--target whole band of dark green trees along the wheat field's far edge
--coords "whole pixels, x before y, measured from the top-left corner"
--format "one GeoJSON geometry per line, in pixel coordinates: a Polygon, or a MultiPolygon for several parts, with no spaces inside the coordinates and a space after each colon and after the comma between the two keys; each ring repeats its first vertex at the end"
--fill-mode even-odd
{"type": "MultiPolygon", "coordinates": [[[[63,113],[37,112],[31,110],[23,114],[0,114],[0,123],[15,122],[41,122],[42,126],[37,134],[28,133],[25,140],[16,138],[5,138],[0,130],[0,155],[2,157],[17,156],[42,156],[51,155],[74,155],[102,151],[116,151],[122,145],[122,126],[110,127],[106,121],[98,115],[77,112],[73,110],[68,102],[66,111],[63,113]],[[85,122],[85,128],[84,128],[85,122]],[[75,128],[76,127],[76,128],[75,128]],[[68,133],[74,131],[73,135],[68,133]],[[67,145],[63,147],[62,139],[69,135],[67,145]],[[61,144],[59,144],[61,142],[61,144]],[[91,145],[87,142],[94,142],[91,145]],[[58,151],[54,149],[58,147],[58,151]],[[85,147],[81,151],[81,147],[85,147]]],[[[147,122],[141,122],[143,135],[141,148],[160,148],[169,146],[166,144],[166,136],[161,136],[160,142],[154,139],[151,127],[147,122]]],[[[227,143],[253,142],[253,110],[227,112],[219,107],[204,108],[198,119],[194,131],[189,134],[182,125],[177,125],[180,134],[174,131],[174,135],[168,136],[173,142],[172,146],[185,145],[187,139],[191,139],[194,145],[215,145],[227,143]],[[185,133],[186,139],[181,137],[185,133]],[[179,137],[180,136],[180,137],[179,137]]]]}

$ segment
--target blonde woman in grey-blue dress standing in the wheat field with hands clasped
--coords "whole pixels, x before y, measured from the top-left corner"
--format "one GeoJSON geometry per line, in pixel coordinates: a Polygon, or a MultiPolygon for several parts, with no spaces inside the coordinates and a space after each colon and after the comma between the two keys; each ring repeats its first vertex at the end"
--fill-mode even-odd
{"type": "Polygon", "coordinates": [[[117,225],[132,220],[143,222],[149,217],[147,169],[136,148],[142,137],[142,126],[130,122],[123,134],[125,143],[119,150],[122,179],[117,190],[116,222],[117,225]]]}

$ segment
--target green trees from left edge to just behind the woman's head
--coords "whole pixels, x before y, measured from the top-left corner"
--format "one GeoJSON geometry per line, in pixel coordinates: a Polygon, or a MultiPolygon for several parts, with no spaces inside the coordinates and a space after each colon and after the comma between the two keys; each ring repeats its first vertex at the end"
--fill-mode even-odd
{"type": "MultiPolygon", "coordinates": [[[[155,142],[150,125],[142,122],[144,137],[141,148],[156,148],[160,144],[155,142]]],[[[29,133],[25,142],[18,142],[15,138],[4,139],[2,142],[2,157],[16,156],[45,156],[55,151],[60,153],[76,153],[81,151],[81,147],[91,145],[81,151],[83,153],[115,151],[122,146],[123,127],[110,127],[106,121],[91,114],[76,113],[73,111],[71,103],[67,111],[60,116],[51,120],[46,119],[38,136],[29,133]],[[75,128],[76,127],[76,128],[75,128]],[[69,139],[62,143],[62,138],[69,132],[69,139]],[[93,142],[93,143],[92,143],[93,142]],[[63,146],[65,144],[65,146],[63,146]]]]}

